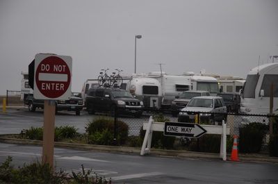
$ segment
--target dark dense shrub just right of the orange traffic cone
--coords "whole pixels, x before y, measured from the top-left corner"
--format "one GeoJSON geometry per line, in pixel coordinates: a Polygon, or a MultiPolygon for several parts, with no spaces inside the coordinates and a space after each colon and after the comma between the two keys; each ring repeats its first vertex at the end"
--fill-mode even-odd
{"type": "Polygon", "coordinates": [[[256,122],[241,126],[238,139],[240,153],[259,153],[265,143],[263,138],[268,129],[268,125],[256,122]]]}

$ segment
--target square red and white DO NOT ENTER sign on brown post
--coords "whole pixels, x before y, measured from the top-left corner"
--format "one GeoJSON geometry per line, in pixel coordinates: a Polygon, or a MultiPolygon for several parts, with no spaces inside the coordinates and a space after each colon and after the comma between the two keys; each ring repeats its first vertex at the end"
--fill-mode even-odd
{"type": "Polygon", "coordinates": [[[72,94],[72,57],[35,55],[35,99],[70,99],[72,94]]]}

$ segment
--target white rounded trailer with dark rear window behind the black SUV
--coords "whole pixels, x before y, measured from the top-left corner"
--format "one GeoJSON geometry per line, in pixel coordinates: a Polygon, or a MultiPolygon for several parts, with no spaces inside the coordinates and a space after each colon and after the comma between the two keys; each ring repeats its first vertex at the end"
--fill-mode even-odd
{"type": "Polygon", "coordinates": [[[126,90],[142,101],[145,108],[161,108],[163,95],[161,83],[156,78],[131,78],[126,84],[126,90]]]}

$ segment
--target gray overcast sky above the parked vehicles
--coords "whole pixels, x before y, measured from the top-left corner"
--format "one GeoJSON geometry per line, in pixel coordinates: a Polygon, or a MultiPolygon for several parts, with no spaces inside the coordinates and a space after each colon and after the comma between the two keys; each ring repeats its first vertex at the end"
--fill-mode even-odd
{"type": "MultiPolygon", "coordinates": [[[[0,0],[0,94],[36,53],[72,56],[72,91],[101,69],[246,78],[278,55],[277,0],[0,0]]],[[[278,60],[275,60],[278,62],[278,60]]]]}

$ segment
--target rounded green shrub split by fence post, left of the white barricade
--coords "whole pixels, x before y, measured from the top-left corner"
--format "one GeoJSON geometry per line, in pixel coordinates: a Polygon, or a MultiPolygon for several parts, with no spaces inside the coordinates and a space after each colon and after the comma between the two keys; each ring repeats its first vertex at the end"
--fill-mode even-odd
{"type": "MultiPolygon", "coordinates": [[[[85,127],[85,131],[88,133],[89,142],[105,138],[106,140],[101,140],[101,142],[106,142],[110,145],[111,142],[114,142],[114,127],[113,118],[101,116],[92,119],[85,127]]],[[[117,121],[117,144],[125,144],[128,133],[129,126],[122,121],[117,121]]]]}

